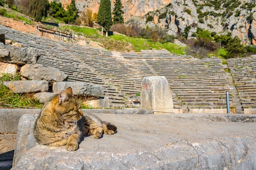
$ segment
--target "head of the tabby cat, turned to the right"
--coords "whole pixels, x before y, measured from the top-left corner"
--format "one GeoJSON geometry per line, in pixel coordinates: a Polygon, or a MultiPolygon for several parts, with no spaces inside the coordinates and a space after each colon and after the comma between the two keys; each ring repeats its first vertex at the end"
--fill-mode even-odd
{"type": "Polygon", "coordinates": [[[72,123],[82,118],[83,112],[81,104],[73,95],[72,88],[69,87],[65,91],[61,91],[52,101],[52,110],[64,122],[72,123]]]}

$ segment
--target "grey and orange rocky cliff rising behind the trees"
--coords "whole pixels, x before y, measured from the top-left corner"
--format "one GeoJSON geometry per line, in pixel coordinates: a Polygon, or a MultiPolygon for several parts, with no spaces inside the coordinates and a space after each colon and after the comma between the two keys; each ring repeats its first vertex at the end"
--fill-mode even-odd
{"type": "MultiPolygon", "coordinates": [[[[71,0],[58,0],[66,4],[71,0]]],[[[112,8],[115,0],[111,0],[112,8]]],[[[100,0],[76,0],[79,11],[97,12],[100,0]]],[[[198,27],[211,32],[238,36],[244,44],[256,44],[256,0],[122,0],[124,18],[139,17],[145,26],[158,25],[169,34],[182,33],[191,26],[189,38],[198,27]],[[146,22],[148,15],[153,20],[146,22]]]]}

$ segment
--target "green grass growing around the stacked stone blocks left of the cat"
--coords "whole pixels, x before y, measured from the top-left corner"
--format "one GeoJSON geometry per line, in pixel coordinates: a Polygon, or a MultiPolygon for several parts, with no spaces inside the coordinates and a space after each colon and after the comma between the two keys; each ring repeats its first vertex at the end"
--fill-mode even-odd
{"type": "Polygon", "coordinates": [[[42,108],[42,104],[34,99],[33,94],[13,93],[3,85],[4,81],[20,80],[20,75],[2,74],[0,76],[0,108],[42,108]]]}

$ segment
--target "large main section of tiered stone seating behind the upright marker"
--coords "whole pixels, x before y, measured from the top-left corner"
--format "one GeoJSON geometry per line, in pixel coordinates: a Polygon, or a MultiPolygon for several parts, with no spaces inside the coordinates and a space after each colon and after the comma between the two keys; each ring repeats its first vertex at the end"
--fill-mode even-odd
{"type": "MultiPolygon", "coordinates": [[[[175,108],[223,108],[229,84],[218,58],[195,59],[166,50],[140,53],[61,44],[2,27],[7,39],[37,48],[39,64],[53,66],[69,75],[68,81],[91,82],[104,87],[111,107],[137,107],[143,77],[162,75],[170,84],[175,108]]],[[[232,105],[231,97],[231,105],[232,105]]]]}

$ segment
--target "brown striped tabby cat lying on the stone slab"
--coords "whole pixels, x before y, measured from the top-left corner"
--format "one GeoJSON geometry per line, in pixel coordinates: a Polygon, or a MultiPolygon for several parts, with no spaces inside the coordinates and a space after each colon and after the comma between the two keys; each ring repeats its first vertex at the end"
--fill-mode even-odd
{"type": "Polygon", "coordinates": [[[34,134],[42,145],[64,146],[69,151],[78,149],[83,135],[94,135],[95,139],[103,133],[112,135],[117,127],[101,121],[97,116],[85,114],[74,97],[72,88],[61,91],[48,99],[36,119],[34,134]]]}

